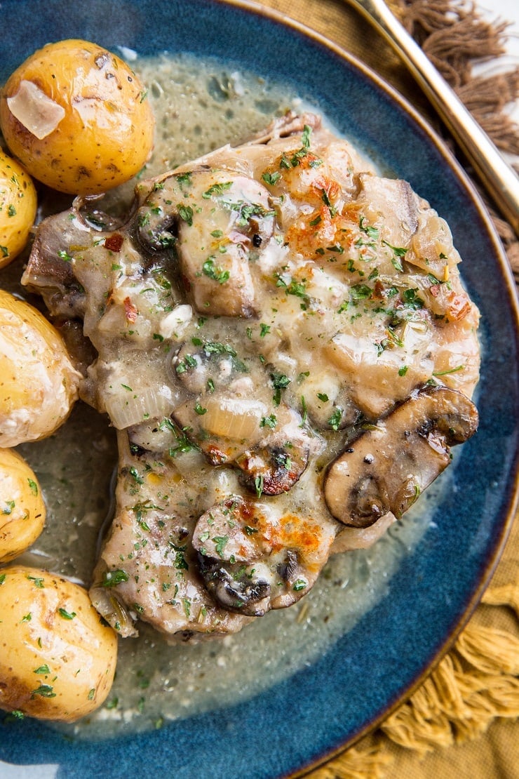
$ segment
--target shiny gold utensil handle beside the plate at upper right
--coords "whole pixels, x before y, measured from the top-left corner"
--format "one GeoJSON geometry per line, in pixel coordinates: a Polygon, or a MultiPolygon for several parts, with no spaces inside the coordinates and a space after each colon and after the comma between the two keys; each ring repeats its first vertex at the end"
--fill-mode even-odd
{"type": "Polygon", "coordinates": [[[494,205],[519,237],[519,177],[384,0],[348,0],[400,55],[447,126],[494,205]]]}

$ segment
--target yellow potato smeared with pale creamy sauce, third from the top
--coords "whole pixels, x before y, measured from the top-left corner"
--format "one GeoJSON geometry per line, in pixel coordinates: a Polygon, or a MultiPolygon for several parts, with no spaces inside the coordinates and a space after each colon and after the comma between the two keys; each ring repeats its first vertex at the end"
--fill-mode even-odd
{"type": "Polygon", "coordinates": [[[80,379],[44,315],[0,290],[0,448],[51,435],[68,417],[80,379]]]}

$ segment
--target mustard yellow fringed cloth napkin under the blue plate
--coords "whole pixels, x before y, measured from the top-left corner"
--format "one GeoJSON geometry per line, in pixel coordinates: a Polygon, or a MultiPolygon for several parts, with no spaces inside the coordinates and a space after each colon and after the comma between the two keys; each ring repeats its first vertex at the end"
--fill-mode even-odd
{"type": "MultiPolygon", "coordinates": [[[[434,12],[444,12],[448,2],[425,2],[432,23],[434,12]]],[[[391,48],[345,2],[262,0],[261,5],[296,19],[356,55],[435,122],[429,104],[391,48]]],[[[470,37],[468,25],[461,26],[461,36],[465,33],[470,37]]],[[[465,38],[465,45],[477,52],[481,41],[465,38]]],[[[499,54],[496,41],[489,52],[499,54]]],[[[512,145],[519,144],[513,129],[511,133],[512,145]]],[[[505,241],[513,241],[507,225],[500,228],[505,241]]],[[[482,604],[451,651],[380,728],[308,775],[311,779],[519,779],[519,516],[482,604]]]]}

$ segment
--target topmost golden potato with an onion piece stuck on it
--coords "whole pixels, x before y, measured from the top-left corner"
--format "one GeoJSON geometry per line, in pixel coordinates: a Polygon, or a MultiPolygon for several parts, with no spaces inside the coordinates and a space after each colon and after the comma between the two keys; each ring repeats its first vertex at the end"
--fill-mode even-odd
{"type": "Polygon", "coordinates": [[[89,41],[47,44],[5,84],[0,127],[30,174],[60,192],[128,181],[149,157],[155,121],[135,73],[89,41]]]}

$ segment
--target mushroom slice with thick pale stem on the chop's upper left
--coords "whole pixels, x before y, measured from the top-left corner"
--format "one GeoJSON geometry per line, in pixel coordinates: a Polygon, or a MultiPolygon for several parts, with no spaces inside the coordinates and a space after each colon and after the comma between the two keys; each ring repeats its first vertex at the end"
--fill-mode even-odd
{"type": "Polygon", "coordinates": [[[261,183],[207,166],[170,174],[155,183],[136,219],[146,249],[175,247],[198,311],[254,314],[249,261],[274,229],[261,183]]]}

